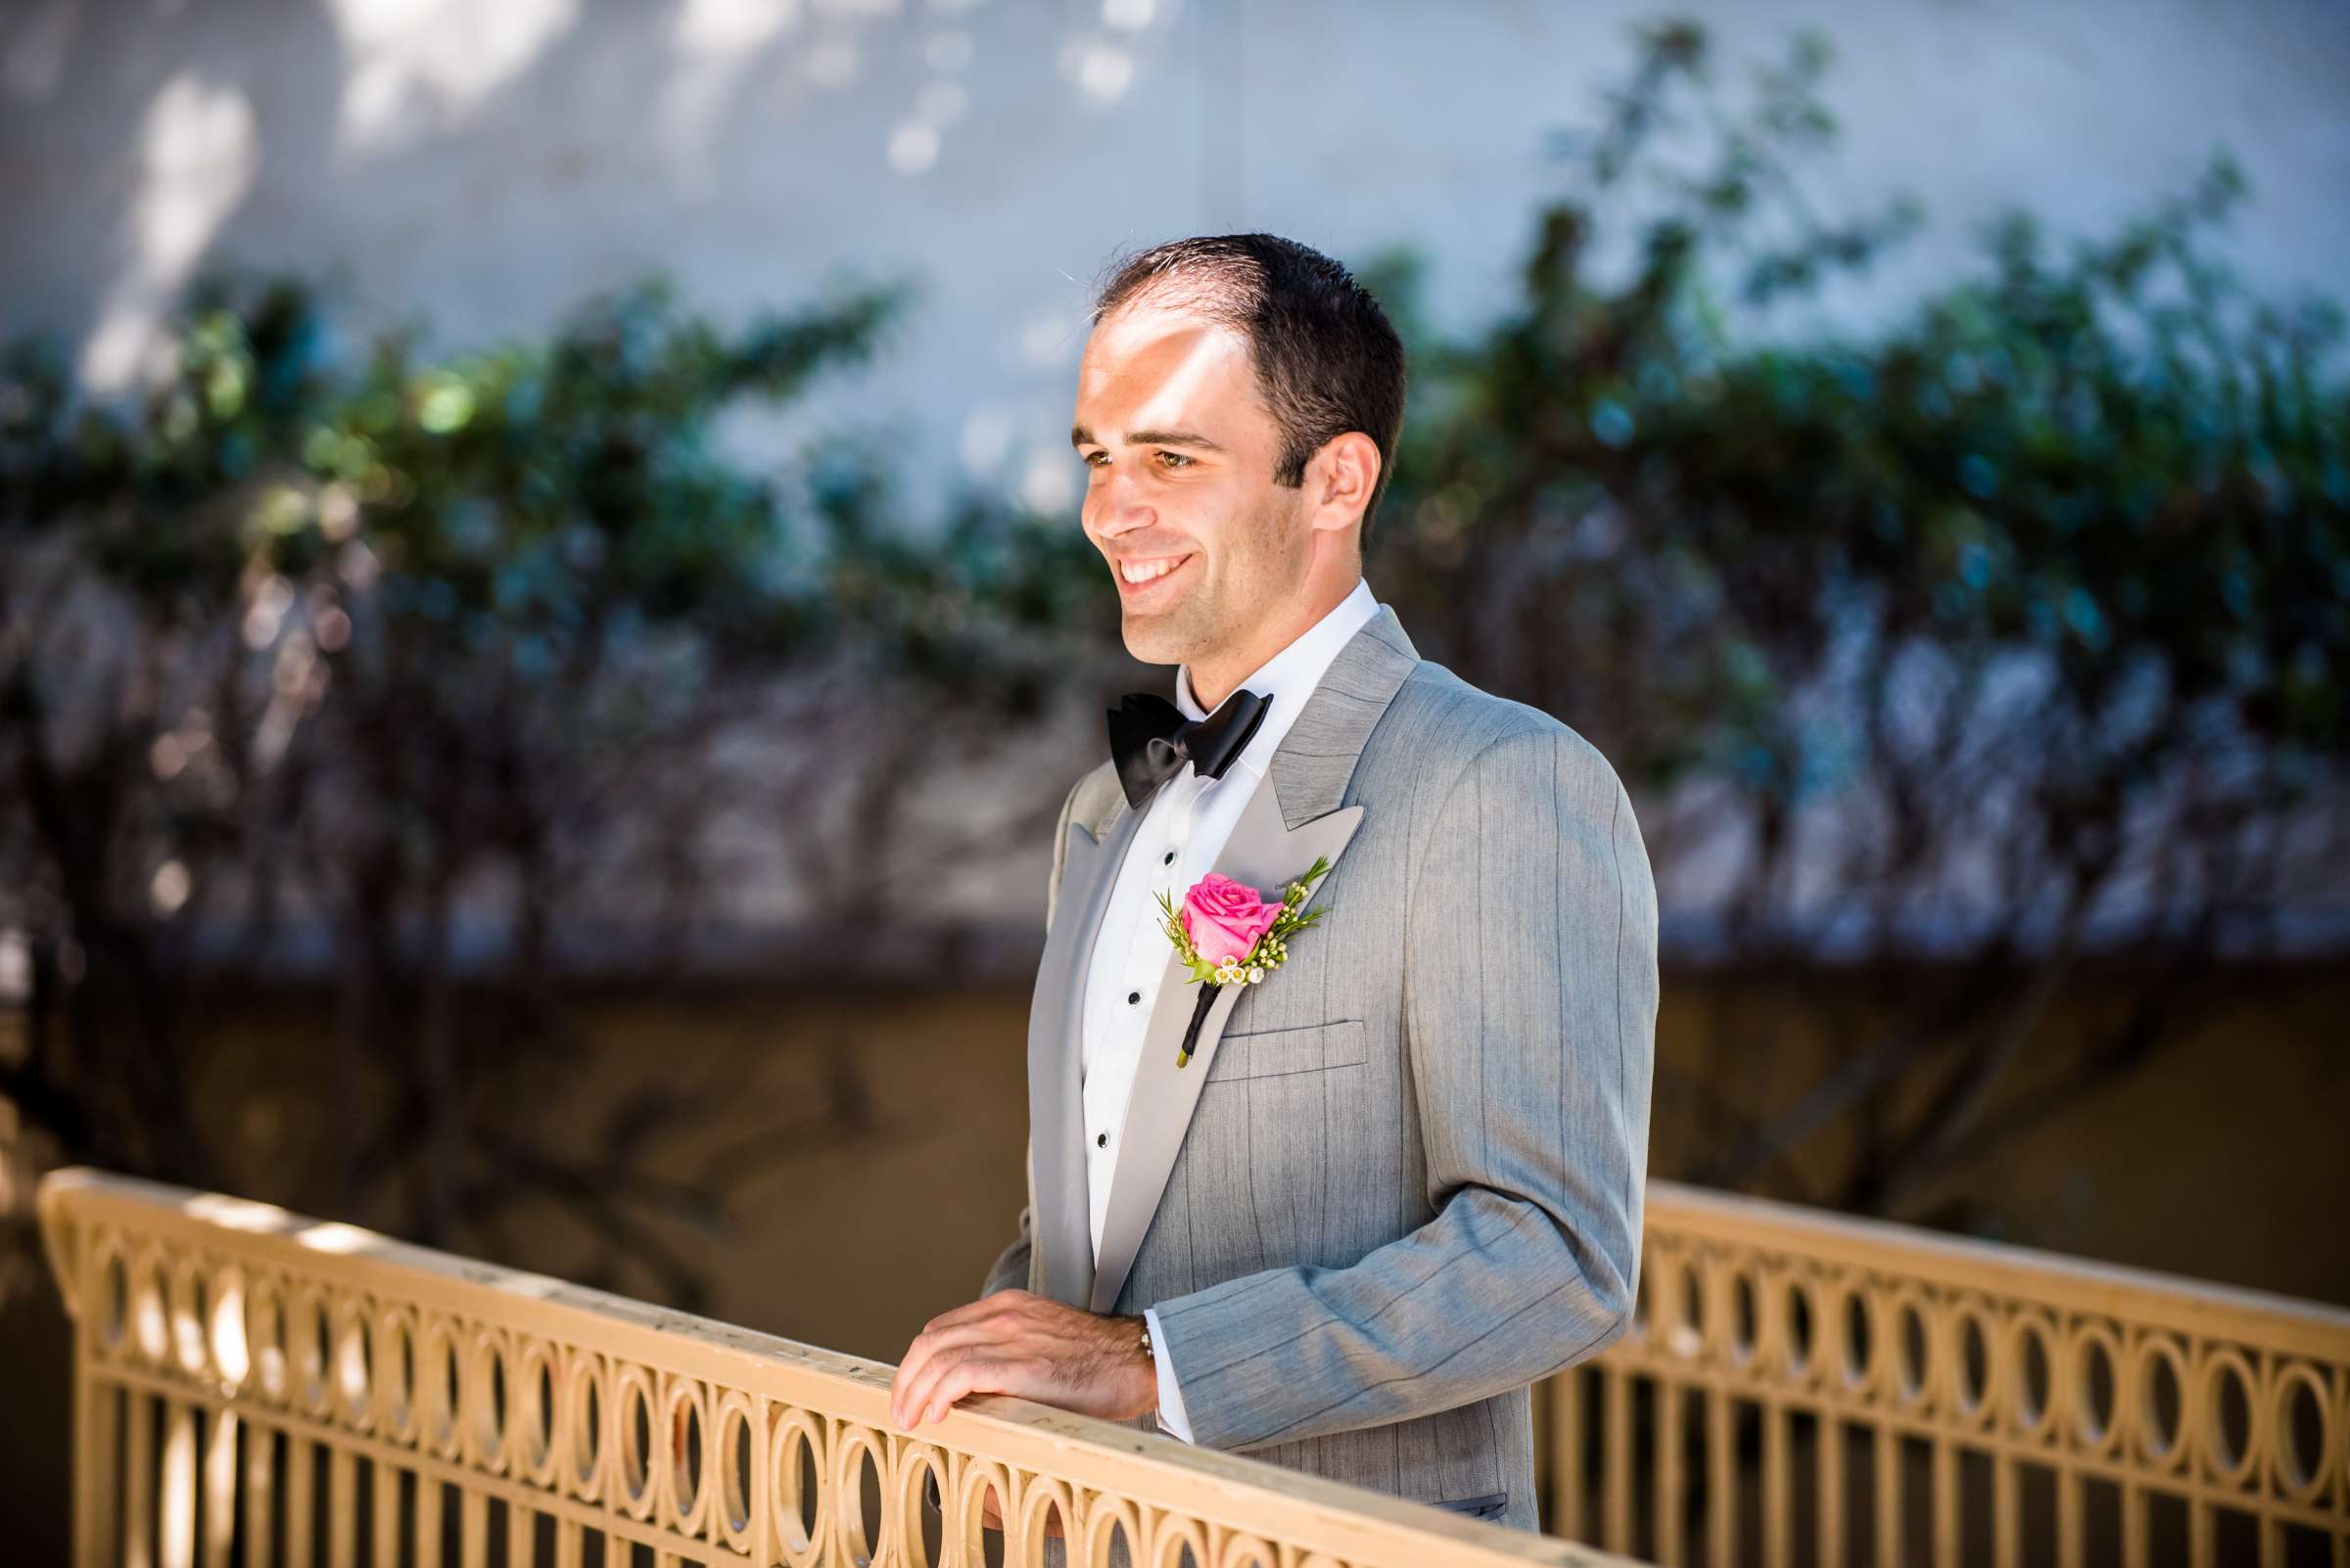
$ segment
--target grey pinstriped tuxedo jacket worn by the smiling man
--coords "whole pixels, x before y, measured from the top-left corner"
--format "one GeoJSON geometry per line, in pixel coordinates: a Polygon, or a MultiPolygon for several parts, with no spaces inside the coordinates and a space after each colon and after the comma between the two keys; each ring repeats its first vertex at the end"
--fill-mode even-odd
{"type": "Polygon", "coordinates": [[[1328,854],[1323,918],[1184,1068],[1168,953],[1097,1268],[1079,998],[1137,819],[1109,763],[1062,805],[1029,1204],[985,1291],[1156,1307],[1201,1446],[1539,1528],[1528,1385],[1624,1333],[1640,1268],[1657,894],[1614,770],[1382,606],[1215,864],[1271,890],[1328,854]]]}

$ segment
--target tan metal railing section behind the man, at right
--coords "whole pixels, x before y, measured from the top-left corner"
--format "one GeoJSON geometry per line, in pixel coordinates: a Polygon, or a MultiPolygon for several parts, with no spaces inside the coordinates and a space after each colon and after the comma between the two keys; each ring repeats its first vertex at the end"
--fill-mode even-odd
{"type": "Polygon", "coordinates": [[[2350,1312],[1671,1183],[1542,1387],[1549,1528],[1657,1563],[2350,1568],[2350,1312]]]}

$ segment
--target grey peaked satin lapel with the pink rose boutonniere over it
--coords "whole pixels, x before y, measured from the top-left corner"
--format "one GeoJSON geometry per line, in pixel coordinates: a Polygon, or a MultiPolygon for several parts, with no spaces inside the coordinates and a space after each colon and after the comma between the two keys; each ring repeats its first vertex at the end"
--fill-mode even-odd
{"type": "MultiPolygon", "coordinates": [[[[1316,857],[1328,854],[1332,871],[1337,869],[1340,854],[1347,852],[1363,822],[1361,805],[1340,805],[1347,782],[1354,777],[1370,730],[1417,662],[1419,655],[1403,636],[1396,613],[1379,606],[1379,613],[1330,660],[1330,669],[1323,671],[1321,683],[1297,711],[1297,723],[1281,737],[1264,779],[1241,807],[1241,822],[1224,840],[1213,871],[1271,892],[1304,876],[1316,857]]],[[[1328,876],[1307,892],[1307,908],[1323,883],[1328,876]]],[[[1278,972],[1262,984],[1278,986],[1278,972]]],[[[1208,1066],[1224,1038],[1224,1023],[1243,991],[1246,986],[1217,991],[1201,1021],[1191,1061],[1177,1068],[1175,1047],[1182,1045],[1182,1033],[1191,1023],[1198,991],[1191,984],[1191,972],[1168,948],[1166,969],[1159,974],[1159,995],[1152,1000],[1152,1016],[1142,1030],[1135,1087],[1126,1099],[1123,1148],[1109,1178],[1109,1211],[1102,1216],[1102,1251],[1090,1291],[1095,1312],[1109,1312],[1119,1291],[1126,1289],[1142,1237],[1152,1216],[1159,1214],[1159,1197],[1175,1169],[1175,1155],[1182,1153],[1201,1084],[1208,1080],[1208,1066]]],[[[1081,1138],[1083,1129],[1076,1136],[1081,1138]]],[[[1079,1181],[1083,1181],[1083,1171],[1079,1171],[1079,1181]]],[[[1079,1230],[1081,1235],[1088,1230],[1083,1207],[1079,1230]]]]}

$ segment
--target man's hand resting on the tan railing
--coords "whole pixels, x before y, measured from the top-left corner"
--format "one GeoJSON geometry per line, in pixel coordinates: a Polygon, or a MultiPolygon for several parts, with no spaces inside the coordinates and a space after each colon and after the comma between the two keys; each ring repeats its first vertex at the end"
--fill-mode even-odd
{"type": "Polygon", "coordinates": [[[888,1387],[891,1425],[909,1432],[945,1420],[964,1394],[1133,1420],[1159,1408],[1159,1368],[1142,1354],[1140,1317],[1079,1312],[1013,1289],[933,1317],[914,1336],[888,1387]]]}

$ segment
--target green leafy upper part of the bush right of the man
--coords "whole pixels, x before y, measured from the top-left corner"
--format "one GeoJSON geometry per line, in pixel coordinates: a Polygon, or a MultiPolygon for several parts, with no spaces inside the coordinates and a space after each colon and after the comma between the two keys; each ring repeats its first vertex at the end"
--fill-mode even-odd
{"type": "MultiPolygon", "coordinates": [[[[1647,31],[1612,117],[1565,141],[1520,303],[1412,343],[1375,538],[1415,624],[1650,789],[1852,789],[1896,749],[1864,725],[1939,711],[1894,685],[1918,653],[1960,681],[2007,662],[1995,728],[2030,753],[2005,765],[2073,796],[2073,836],[2216,742],[2315,786],[2350,742],[2341,312],[2256,300],[2214,254],[2244,192],[2221,157],[2115,237],[2056,256],[2016,214],[1882,331],[1791,336],[1786,305],[1922,221],[1802,195],[1826,63],[1798,42],[1732,115],[1704,33],[1647,31]],[[1824,683],[1842,709],[1802,702],[1824,683]]],[[[1408,293],[1408,258],[1386,279],[1408,293]]]]}

